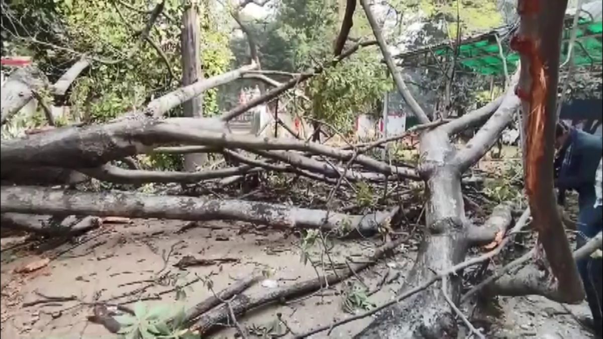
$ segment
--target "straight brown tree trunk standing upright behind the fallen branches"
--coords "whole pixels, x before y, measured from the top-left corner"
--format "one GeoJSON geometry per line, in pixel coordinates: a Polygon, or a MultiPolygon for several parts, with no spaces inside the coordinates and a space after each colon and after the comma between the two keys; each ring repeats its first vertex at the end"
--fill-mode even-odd
{"type": "MultiPolygon", "coordinates": [[[[185,1],[182,14],[182,84],[187,86],[203,78],[199,6],[197,0],[185,1]],[[188,4],[186,4],[188,2],[188,4]]],[[[183,104],[185,116],[203,116],[203,94],[183,104]]],[[[185,170],[194,172],[207,161],[207,154],[185,154],[185,170]]]]}

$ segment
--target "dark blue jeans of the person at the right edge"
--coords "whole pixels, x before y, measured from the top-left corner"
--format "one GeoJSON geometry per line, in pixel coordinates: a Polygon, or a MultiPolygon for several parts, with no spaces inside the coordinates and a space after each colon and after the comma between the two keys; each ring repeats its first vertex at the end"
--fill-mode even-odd
{"type": "MultiPolygon", "coordinates": [[[[583,206],[580,209],[577,227],[579,233],[576,237],[577,248],[584,246],[590,238],[601,232],[603,228],[602,210],[602,206],[593,208],[592,205],[583,206]]],[[[603,312],[601,308],[601,305],[603,305],[602,260],[601,258],[593,259],[588,257],[577,261],[576,265],[582,278],[582,284],[584,284],[586,300],[593,314],[593,320],[596,326],[601,326],[601,314],[603,312]]]]}

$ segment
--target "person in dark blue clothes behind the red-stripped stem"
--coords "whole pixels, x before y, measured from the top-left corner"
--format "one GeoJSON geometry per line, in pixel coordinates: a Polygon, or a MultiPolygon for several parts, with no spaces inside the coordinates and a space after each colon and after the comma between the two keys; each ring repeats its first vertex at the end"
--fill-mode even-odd
{"type": "MultiPolygon", "coordinates": [[[[579,215],[576,229],[576,247],[580,248],[603,229],[601,206],[601,164],[603,139],[563,124],[557,126],[555,147],[555,186],[563,192],[575,189],[578,192],[579,215]]],[[[598,337],[602,331],[602,261],[588,257],[576,262],[584,284],[586,299],[593,315],[593,326],[598,337]]]]}

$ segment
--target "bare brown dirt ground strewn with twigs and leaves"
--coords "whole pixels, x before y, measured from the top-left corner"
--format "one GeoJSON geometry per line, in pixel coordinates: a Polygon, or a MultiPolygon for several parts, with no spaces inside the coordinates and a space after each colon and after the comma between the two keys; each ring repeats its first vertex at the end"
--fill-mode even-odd
{"type": "MultiPolygon", "coordinates": [[[[100,229],[74,239],[73,243],[55,249],[24,249],[24,246],[19,248],[19,238],[2,239],[2,338],[115,337],[103,326],[87,321],[87,315],[91,315],[92,311],[86,303],[109,300],[131,306],[137,298],[153,299],[145,301],[150,305],[175,303],[176,292],[171,285],[150,282],[160,275],[158,273],[164,266],[163,273],[175,275],[188,272],[187,276],[177,280],[177,285],[200,276],[210,279],[216,291],[254,271],[273,271],[268,279],[270,281],[254,285],[247,292],[250,294],[274,288],[274,282],[285,286],[315,277],[314,268],[301,263],[297,249],[299,239],[294,235],[276,230],[258,230],[248,224],[223,222],[204,223],[184,233],[175,233],[185,224],[184,221],[160,220],[104,224],[100,229]],[[36,255],[36,252],[39,254],[36,255]],[[165,261],[169,252],[169,258],[165,261]],[[189,267],[186,271],[173,266],[186,255],[204,259],[233,258],[237,262],[189,267]],[[42,258],[50,259],[44,267],[30,273],[17,273],[28,264],[40,264],[42,258]],[[147,288],[140,292],[141,287],[147,288]],[[77,300],[31,305],[36,300],[43,300],[39,294],[74,296],[77,300]]],[[[379,245],[379,239],[374,238],[339,242],[332,250],[332,259],[339,264],[346,257],[352,261],[362,261],[379,245]]],[[[409,245],[400,246],[395,256],[380,261],[359,276],[370,289],[384,280],[384,274],[393,277],[400,273],[400,277],[404,277],[412,267],[415,247],[416,242],[412,241],[409,245]]],[[[315,253],[315,259],[317,255],[315,253]]],[[[385,284],[370,297],[370,301],[379,305],[393,297],[399,287],[397,283],[385,284]]],[[[280,313],[293,332],[305,332],[329,324],[333,318],[349,316],[342,311],[341,288],[342,284],[339,284],[285,305],[264,307],[241,317],[239,322],[248,328],[262,329],[273,323],[276,314],[280,313]]],[[[184,303],[187,307],[212,295],[202,282],[191,284],[185,291],[184,303]]],[[[500,299],[499,306],[499,309],[488,314],[484,323],[483,327],[490,331],[487,337],[590,337],[576,319],[557,303],[539,297],[520,297],[500,299]]],[[[570,310],[578,316],[589,313],[586,304],[570,306],[570,310]]],[[[370,320],[364,318],[348,323],[333,329],[328,336],[322,332],[314,338],[349,338],[370,320]]],[[[463,325],[459,327],[463,328],[463,325]]],[[[235,334],[236,331],[230,328],[211,337],[233,338],[235,334]]]]}

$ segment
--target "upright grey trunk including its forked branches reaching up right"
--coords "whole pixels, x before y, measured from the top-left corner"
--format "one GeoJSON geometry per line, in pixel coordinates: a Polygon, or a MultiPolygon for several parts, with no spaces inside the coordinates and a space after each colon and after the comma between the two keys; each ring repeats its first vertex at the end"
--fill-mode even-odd
{"type": "MultiPolygon", "coordinates": [[[[514,76],[517,81],[519,74],[514,76]]],[[[399,293],[431,280],[441,271],[463,261],[470,241],[471,223],[466,218],[461,191],[461,174],[494,145],[498,135],[513,118],[519,99],[508,90],[502,100],[488,105],[491,118],[466,147],[456,150],[453,134],[481,121],[484,109],[467,113],[458,122],[441,125],[421,136],[419,174],[426,182],[426,224],[417,261],[399,293]],[[496,109],[496,112],[491,111],[496,109]]],[[[482,239],[483,241],[483,239],[482,239]]],[[[446,285],[434,284],[404,303],[393,305],[377,316],[356,338],[447,338],[456,336],[455,315],[442,288],[453,302],[459,300],[461,278],[452,276],[446,285]]]]}

